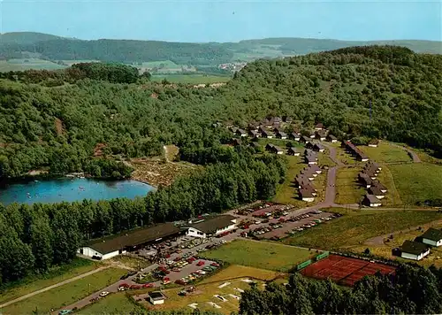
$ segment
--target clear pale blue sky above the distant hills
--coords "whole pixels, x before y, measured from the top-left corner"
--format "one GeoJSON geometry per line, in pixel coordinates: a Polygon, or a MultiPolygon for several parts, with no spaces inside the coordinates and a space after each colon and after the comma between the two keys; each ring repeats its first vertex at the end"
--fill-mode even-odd
{"type": "Polygon", "coordinates": [[[442,41],[442,0],[0,0],[0,33],[238,42],[265,37],[442,41]]]}

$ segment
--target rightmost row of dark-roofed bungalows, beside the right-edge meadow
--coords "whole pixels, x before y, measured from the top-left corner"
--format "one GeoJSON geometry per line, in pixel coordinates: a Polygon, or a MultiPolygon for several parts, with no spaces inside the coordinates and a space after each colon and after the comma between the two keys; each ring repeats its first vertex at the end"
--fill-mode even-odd
{"type": "Polygon", "coordinates": [[[367,188],[367,194],[362,201],[370,207],[379,207],[382,205],[381,199],[385,198],[387,189],[379,181],[377,175],[381,172],[382,167],[376,162],[369,162],[358,174],[358,180],[362,183],[364,188],[367,188]]]}

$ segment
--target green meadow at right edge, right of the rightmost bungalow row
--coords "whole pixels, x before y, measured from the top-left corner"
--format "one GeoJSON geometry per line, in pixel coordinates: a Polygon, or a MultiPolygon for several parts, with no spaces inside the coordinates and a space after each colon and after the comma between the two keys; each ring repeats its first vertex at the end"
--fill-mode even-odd
{"type": "Polygon", "coordinates": [[[415,163],[388,168],[404,204],[442,199],[442,165],[415,163]]]}

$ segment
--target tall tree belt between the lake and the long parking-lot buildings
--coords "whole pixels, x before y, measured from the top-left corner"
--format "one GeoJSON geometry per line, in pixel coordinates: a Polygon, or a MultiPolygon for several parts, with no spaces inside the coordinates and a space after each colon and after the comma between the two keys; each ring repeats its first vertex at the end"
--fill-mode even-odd
{"type": "Polygon", "coordinates": [[[214,156],[223,157],[223,162],[206,164],[200,172],[144,198],[0,204],[0,287],[70,262],[80,245],[92,238],[270,198],[284,181],[286,164],[281,157],[255,157],[249,150],[220,148],[214,156]]]}

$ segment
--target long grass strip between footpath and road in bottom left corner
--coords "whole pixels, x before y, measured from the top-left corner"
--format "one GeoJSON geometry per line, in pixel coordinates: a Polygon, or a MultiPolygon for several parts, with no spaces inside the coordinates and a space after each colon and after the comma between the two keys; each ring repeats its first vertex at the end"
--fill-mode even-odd
{"type": "Polygon", "coordinates": [[[108,268],[94,273],[80,280],[75,280],[64,286],[50,289],[24,301],[6,306],[1,311],[3,314],[30,314],[37,310],[39,313],[48,313],[51,309],[59,309],[88,296],[119,280],[127,273],[124,269],[108,268]]]}

